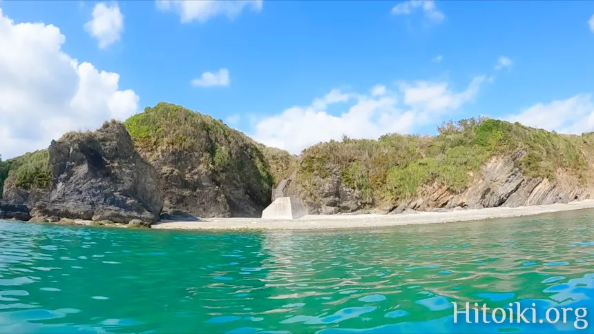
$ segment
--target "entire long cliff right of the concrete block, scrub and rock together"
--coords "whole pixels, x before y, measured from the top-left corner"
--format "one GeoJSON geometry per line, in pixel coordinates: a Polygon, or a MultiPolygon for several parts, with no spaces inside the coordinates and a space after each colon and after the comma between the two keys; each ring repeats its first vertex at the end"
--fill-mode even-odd
{"type": "Polygon", "coordinates": [[[345,138],[305,150],[288,193],[323,214],[567,203],[594,195],[593,144],[493,119],[434,137],[345,138]]]}

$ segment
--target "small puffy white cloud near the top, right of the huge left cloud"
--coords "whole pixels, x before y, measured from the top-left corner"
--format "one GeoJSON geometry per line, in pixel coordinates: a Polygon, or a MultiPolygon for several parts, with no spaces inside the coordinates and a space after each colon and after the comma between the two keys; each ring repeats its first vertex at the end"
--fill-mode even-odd
{"type": "Polygon", "coordinates": [[[85,23],[84,28],[99,40],[99,48],[106,48],[122,37],[124,15],[119,12],[117,3],[108,6],[100,2],[93,8],[93,19],[85,23]]]}

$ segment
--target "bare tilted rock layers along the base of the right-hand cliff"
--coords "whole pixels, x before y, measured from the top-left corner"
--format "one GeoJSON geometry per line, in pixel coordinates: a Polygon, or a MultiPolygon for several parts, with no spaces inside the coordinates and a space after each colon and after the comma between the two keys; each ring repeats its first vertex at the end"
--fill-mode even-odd
{"type": "MultiPolygon", "coordinates": [[[[562,170],[555,174],[553,180],[524,175],[516,166],[517,161],[524,155],[525,151],[517,151],[508,157],[493,157],[462,192],[436,183],[422,188],[418,196],[392,205],[372,205],[361,191],[345,185],[338,173],[331,173],[327,178],[316,176],[314,182],[319,189],[315,194],[316,200],[309,198],[304,204],[309,214],[332,215],[363,211],[394,214],[453,208],[515,208],[594,198],[594,184],[580,183],[562,170]]],[[[303,193],[303,189],[297,183],[291,183],[289,194],[297,196],[303,193]]]]}

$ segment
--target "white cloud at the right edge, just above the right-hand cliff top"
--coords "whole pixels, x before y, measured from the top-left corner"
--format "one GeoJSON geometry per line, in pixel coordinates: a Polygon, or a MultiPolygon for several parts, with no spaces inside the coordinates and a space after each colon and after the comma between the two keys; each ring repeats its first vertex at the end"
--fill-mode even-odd
{"type": "Polygon", "coordinates": [[[533,128],[580,134],[594,130],[594,101],[590,94],[579,94],[565,100],[535,104],[503,118],[533,128]]]}

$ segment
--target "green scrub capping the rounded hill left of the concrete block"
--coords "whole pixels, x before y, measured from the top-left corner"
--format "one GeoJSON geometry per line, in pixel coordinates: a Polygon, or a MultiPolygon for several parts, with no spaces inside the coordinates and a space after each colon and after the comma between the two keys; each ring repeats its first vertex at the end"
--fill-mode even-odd
{"type": "Polygon", "coordinates": [[[149,161],[162,153],[187,154],[220,183],[236,181],[249,193],[257,193],[256,197],[269,196],[274,176],[268,160],[252,139],[220,120],[162,102],[124,124],[149,161]]]}

